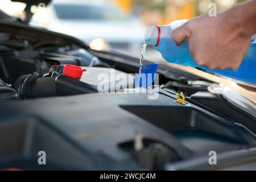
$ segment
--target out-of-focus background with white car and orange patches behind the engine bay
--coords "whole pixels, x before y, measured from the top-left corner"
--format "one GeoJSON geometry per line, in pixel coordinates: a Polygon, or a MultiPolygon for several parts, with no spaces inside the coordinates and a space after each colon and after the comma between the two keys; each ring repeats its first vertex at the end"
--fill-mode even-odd
{"type": "MultiPolygon", "coordinates": [[[[243,0],[52,0],[45,7],[42,0],[31,7],[30,24],[75,36],[96,50],[139,57],[147,27],[208,13],[210,3],[223,11],[239,2],[243,0]]],[[[26,19],[24,7],[10,0],[0,3],[2,11],[20,19],[26,19]]],[[[163,61],[151,47],[145,58],[163,61]]]]}

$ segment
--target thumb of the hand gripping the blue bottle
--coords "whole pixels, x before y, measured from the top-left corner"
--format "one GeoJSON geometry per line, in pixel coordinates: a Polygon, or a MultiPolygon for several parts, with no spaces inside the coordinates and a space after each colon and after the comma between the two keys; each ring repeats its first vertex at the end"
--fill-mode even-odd
{"type": "Polygon", "coordinates": [[[172,31],[172,40],[176,43],[177,46],[180,46],[185,39],[189,38],[189,31],[187,28],[187,23],[183,24],[183,26],[180,26],[176,28],[174,31],[172,31]]]}

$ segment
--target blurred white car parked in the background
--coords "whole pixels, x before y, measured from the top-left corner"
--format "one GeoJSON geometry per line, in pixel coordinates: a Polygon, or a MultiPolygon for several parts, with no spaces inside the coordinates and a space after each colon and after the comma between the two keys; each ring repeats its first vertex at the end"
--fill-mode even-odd
{"type": "Polygon", "coordinates": [[[112,3],[52,1],[39,8],[31,24],[79,38],[97,50],[112,49],[138,57],[146,28],[112,3]]]}

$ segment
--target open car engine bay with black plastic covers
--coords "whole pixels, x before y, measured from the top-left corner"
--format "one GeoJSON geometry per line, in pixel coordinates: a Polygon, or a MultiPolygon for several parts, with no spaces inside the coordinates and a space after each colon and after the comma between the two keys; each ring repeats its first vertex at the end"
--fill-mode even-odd
{"type": "MultiPolygon", "coordinates": [[[[159,65],[156,100],[148,93],[98,93],[100,73],[137,73],[138,59],[1,24],[2,169],[209,169],[216,168],[207,165],[210,151],[240,150],[242,165],[246,149],[255,146],[255,117],[210,93],[212,81],[159,65]],[[84,68],[82,77],[63,75],[66,64],[84,68]],[[180,92],[185,104],[176,102],[180,92]],[[47,166],[37,163],[42,150],[47,166]],[[197,159],[195,166],[185,163],[197,159]]],[[[133,88],[133,81],[127,86],[133,88]]],[[[229,167],[229,157],[218,167],[229,167]]]]}

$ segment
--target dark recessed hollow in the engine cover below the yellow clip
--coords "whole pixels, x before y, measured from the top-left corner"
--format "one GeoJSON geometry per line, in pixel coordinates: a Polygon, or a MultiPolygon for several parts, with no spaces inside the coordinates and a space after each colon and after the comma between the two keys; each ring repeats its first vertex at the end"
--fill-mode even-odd
{"type": "Polygon", "coordinates": [[[255,139],[233,122],[190,106],[120,107],[174,135],[184,146],[195,152],[225,151],[255,144],[255,139]]]}

